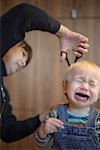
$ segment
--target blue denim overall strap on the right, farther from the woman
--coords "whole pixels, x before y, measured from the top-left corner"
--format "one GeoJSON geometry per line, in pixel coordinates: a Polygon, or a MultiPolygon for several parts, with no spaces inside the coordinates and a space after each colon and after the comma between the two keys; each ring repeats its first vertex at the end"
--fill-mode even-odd
{"type": "Polygon", "coordinates": [[[95,127],[95,121],[96,121],[96,116],[99,113],[99,109],[96,108],[91,108],[89,117],[88,117],[88,122],[87,122],[87,127],[95,127]]]}

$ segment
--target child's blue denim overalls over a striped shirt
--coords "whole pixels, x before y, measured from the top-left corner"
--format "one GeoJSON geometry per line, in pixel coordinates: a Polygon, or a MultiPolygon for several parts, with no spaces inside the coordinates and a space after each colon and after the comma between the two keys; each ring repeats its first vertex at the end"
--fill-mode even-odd
{"type": "Polygon", "coordinates": [[[90,109],[85,127],[76,127],[68,123],[66,105],[59,105],[57,109],[59,119],[64,122],[64,129],[58,129],[54,134],[55,141],[51,150],[100,150],[99,139],[95,132],[97,109],[90,109]]]}

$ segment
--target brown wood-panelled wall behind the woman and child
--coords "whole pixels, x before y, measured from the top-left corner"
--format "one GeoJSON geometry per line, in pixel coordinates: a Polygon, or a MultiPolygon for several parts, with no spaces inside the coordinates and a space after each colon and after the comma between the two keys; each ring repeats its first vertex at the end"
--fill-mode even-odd
{"type": "MultiPolygon", "coordinates": [[[[76,0],[78,18],[72,19],[72,0],[1,0],[1,14],[21,2],[28,2],[46,10],[64,25],[89,37],[89,53],[84,56],[100,65],[100,1],[76,0]]],[[[26,34],[33,48],[31,63],[22,71],[5,79],[11,95],[13,113],[26,119],[65,100],[61,82],[67,69],[59,62],[59,42],[54,35],[39,31],[26,34]]],[[[100,108],[100,102],[96,104],[100,108]]],[[[36,150],[33,135],[12,144],[1,142],[2,150],[36,150]]]]}

